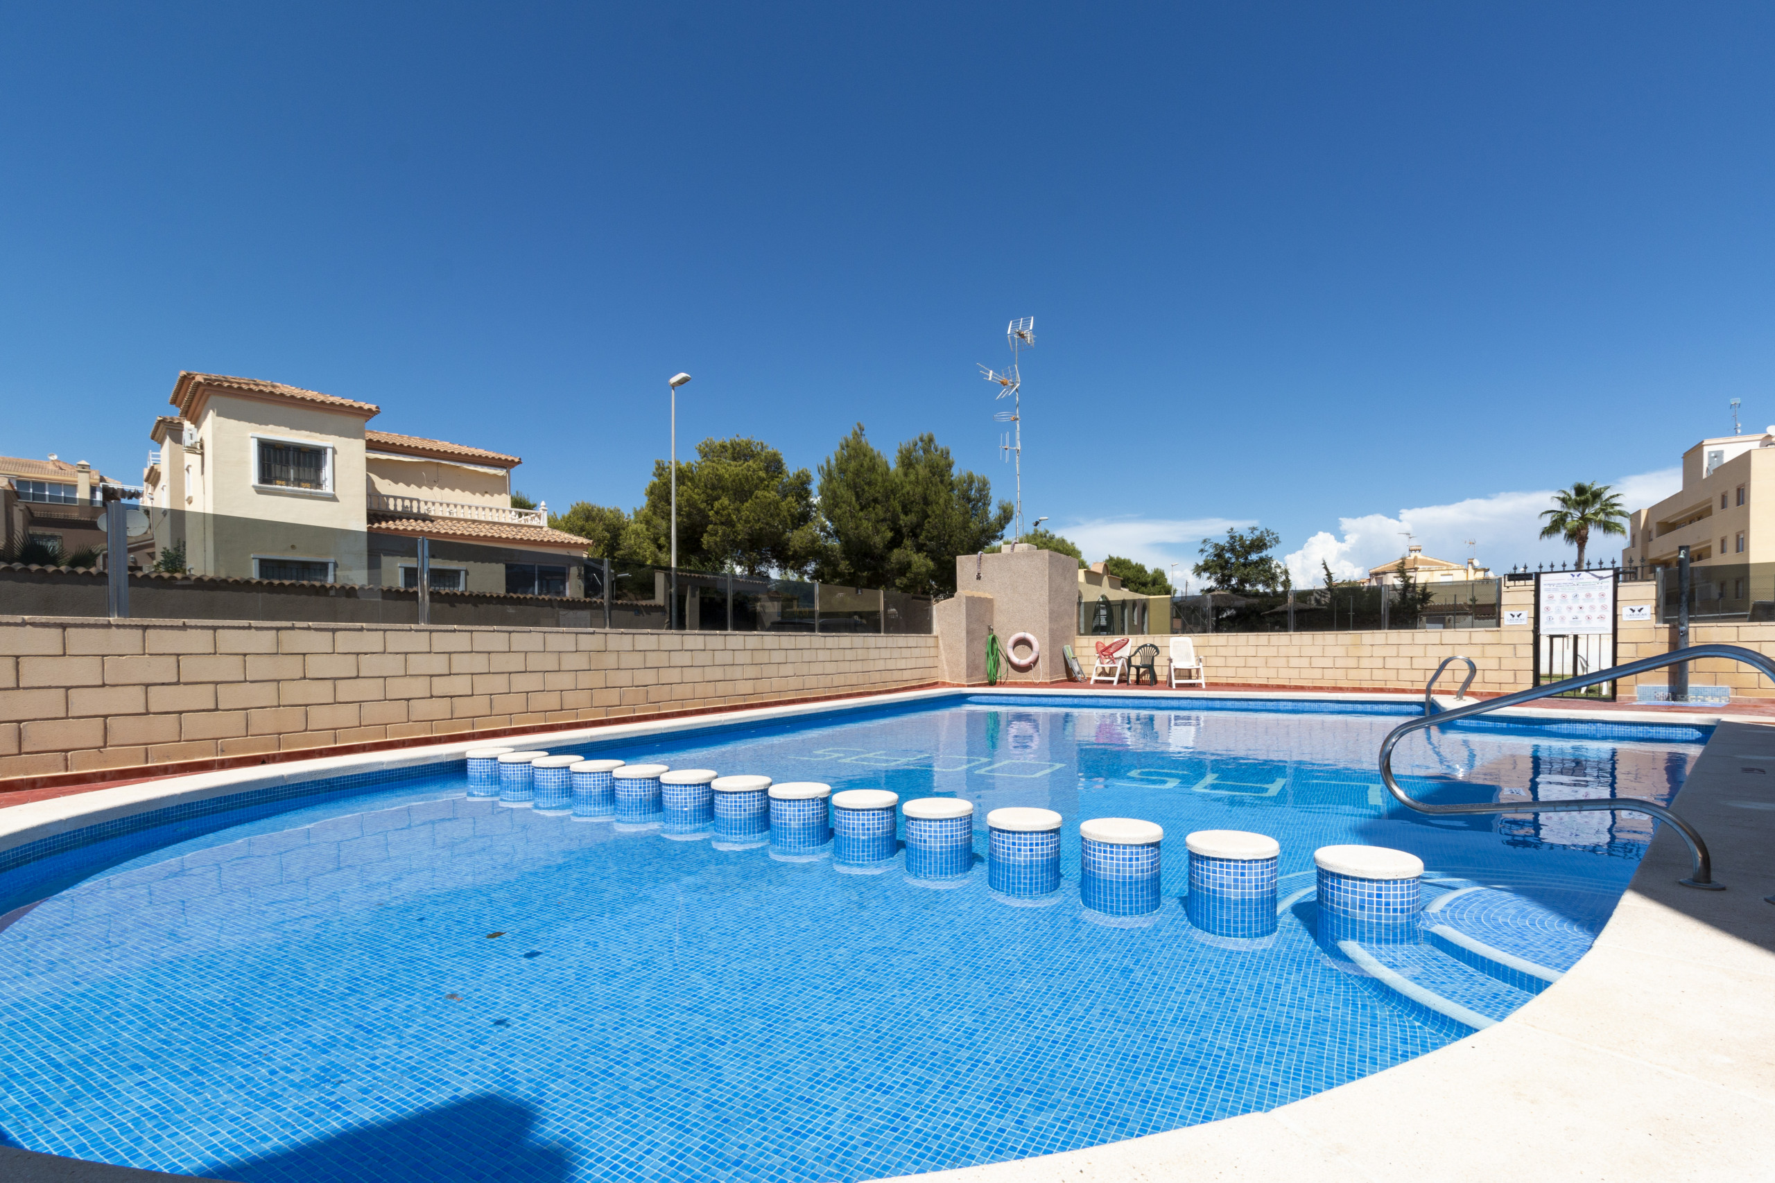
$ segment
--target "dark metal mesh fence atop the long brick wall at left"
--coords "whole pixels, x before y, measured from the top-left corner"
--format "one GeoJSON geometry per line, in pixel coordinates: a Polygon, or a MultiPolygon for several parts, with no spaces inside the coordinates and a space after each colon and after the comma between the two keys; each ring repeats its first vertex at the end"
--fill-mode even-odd
{"type": "MultiPolygon", "coordinates": [[[[586,559],[174,509],[112,505],[91,569],[0,566],[4,615],[474,624],[746,633],[930,633],[930,596],[586,559]]],[[[405,525],[405,523],[403,523],[405,525]]]]}

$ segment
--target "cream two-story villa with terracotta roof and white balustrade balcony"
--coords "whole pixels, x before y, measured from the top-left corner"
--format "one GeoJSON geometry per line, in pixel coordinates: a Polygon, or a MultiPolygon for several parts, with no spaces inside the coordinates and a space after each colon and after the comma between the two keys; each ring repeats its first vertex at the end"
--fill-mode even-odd
{"type": "Polygon", "coordinates": [[[580,594],[586,539],[511,505],[517,456],[369,429],[382,408],[256,378],[179,374],[142,474],[163,566],[204,575],[580,594]],[[165,513],[154,513],[165,511],[165,513]]]}

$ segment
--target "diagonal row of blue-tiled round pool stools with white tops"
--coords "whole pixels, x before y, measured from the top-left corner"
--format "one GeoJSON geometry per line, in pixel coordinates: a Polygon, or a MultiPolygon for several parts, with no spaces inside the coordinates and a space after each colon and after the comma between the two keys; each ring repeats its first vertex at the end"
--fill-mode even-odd
{"type": "MultiPolygon", "coordinates": [[[[469,796],[501,805],[612,821],[621,830],[655,830],[673,839],[714,839],[715,850],[769,846],[776,858],[822,858],[841,869],[880,869],[900,853],[898,809],[905,816],[905,873],[925,883],[958,881],[974,866],[974,805],[927,796],[900,805],[896,793],[848,789],[811,780],[772,784],[770,777],[722,777],[706,768],[627,764],[513,748],[474,748],[469,796]]],[[[1060,889],[1061,818],[1051,809],[994,809],[987,814],[987,883],[1012,899],[1038,901],[1060,889]]],[[[1079,896],[1086,908],[1140,917],[1163,905],[1159,844],[1164,830],[1134,818],[1079,823],[1079,896]]],[[[1276,931],[1276,839],[1242,830],[1198,830],[1189,850],[1189,921],[1218,936],[1276,931]]],[[[1381,846],[1324,846],[1314,857],[1319,912],[1353,924],[1415,924],[1424,864],[1381,846]]]]}

